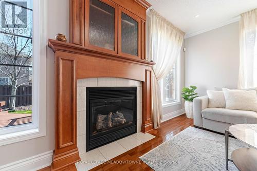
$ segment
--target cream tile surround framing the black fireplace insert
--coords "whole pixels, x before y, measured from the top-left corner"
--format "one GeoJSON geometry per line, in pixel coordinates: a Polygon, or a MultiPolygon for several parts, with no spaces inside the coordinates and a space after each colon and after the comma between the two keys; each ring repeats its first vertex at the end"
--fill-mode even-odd
{"type": "Polygon", "coordinates": [[[142,124],[142,83],[121,78],[90,78],[77,81],[77,146],[86,152],[86,87],[137,87],[137,132],[142,124]]]}

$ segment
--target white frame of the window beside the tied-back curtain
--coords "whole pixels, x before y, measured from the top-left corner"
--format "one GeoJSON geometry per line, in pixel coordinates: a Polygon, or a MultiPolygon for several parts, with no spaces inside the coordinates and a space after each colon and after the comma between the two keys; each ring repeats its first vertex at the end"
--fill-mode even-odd
{"type": "MultiPolygon", "coordinates": [[[[180,85],[181,85],[181,57],[180,54],[178,55],[178,59],[176,62],[176,66],[175,66],[175,96],[176,96],[176,101],[175,102],[171,102],[171,103],[162,103],[162,107],[170,107],[170,106],[174,106],[174,105],[178,105],[181,104],[181,96],[180,96],[180,85]]],[[[161,88],[161,99],[163,99],[163,79],[160,81],[160,88],[161,88]]]]}

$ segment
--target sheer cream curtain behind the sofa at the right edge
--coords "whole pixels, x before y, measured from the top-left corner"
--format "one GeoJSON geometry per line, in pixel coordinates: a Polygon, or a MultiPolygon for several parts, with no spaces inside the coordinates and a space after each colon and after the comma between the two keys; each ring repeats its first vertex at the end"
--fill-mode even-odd
{"type": "Polygon", "coordinates": [[[257,87],[257,9],[241,14],[238,88],[257,87]]]}

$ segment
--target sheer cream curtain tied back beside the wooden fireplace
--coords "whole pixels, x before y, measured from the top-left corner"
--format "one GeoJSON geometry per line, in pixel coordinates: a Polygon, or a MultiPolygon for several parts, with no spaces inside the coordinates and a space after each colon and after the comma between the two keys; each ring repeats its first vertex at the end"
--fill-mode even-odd
{"type": "Polygon", "coordinates": [[[175,64],[185,35],[153,9],[150,10],[150,59],[156,62],[153,67],[153,120],[154,128],[160,126],[162,119],[161,93],[158,81],[165,77],[175,64]]]}

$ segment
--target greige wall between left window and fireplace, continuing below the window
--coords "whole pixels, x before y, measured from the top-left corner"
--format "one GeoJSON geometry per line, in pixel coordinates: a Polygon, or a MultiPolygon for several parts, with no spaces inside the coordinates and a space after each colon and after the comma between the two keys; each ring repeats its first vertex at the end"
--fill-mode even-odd
{"type": "MultiPolygon", "coordinates": [[[[57,33],[68,36],[68,22],[69,0],[47,0],[47,38],[54,39],[57,33]]],[[[46,50],[46,136],[0,146],[0,166],[54,149],[54,55],[47,46],[46,50]]]]}

